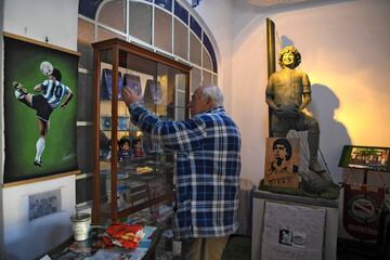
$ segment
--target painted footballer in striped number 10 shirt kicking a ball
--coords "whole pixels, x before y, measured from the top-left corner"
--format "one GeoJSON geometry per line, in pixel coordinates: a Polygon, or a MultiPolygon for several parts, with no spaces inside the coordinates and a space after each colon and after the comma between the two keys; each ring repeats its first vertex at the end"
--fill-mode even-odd
{"type": "Polygon", "coordinates": [[[55,107],[57,107],[61,102],[62,108],[65,108],[66,105],[73,98],[72,90],[65,84],[61,83],[61,72],[57,68],[53,68],[53,66],[49,62],[42,62],[40,65],[41,73],[48,77],[42,83],[34,87],[34,91],[40,92],[40,94],[30,94],[27,90],[20,83],[13,82],[13,87],[15,88],[15,96],[18,101],[27,105],[28,107],[35,109],[38,117],[38,127],[40,136],[37,141],[36,148],[36,157],[34,160],[34,165],[42,167],[42,153],[44,150],[46,136],[49,130],[49,118],[51,113],[55,107]]]}

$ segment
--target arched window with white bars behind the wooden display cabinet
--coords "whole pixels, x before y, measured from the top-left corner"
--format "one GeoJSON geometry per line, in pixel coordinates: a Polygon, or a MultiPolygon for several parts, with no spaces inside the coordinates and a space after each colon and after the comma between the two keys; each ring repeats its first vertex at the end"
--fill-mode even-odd
{"type": "MultiPolygon", "coordinates": [[[[190,91],[217,84],[214,40],[186,0],[79,0],[79,88],[77,150],[81,172],[76,181],[78,207],[91,204],[93,154],[93,53],[91,43],[121,38],[193,67],[190,91]]],[[[178,88],[178,96],[185,90],[178,88]]],[[[181,100],[184,100],[182,98],[181,100]]],[[[183,116],[182,116],[183,117],[183,116]]]]}

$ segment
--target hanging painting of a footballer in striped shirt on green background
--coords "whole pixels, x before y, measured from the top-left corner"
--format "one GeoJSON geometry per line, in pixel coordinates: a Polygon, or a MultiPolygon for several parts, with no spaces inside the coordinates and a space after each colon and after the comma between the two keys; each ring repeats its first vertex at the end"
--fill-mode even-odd
{"type": "Polygon", "coordinates": [[[78,169],[78,57],[4,32],[4,183],[78,169]]]}

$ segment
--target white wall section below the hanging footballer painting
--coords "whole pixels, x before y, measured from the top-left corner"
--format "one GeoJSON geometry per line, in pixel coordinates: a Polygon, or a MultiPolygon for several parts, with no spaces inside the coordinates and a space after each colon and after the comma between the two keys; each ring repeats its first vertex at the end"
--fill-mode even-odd
{"type": "Polygon", "coordinates": [[[76,202],[75,177],[3,188],[6,259],[36,259],[72,236],[76,202]],[[28,220],[28,196],[61,190],[61,211],[28,220]]]}

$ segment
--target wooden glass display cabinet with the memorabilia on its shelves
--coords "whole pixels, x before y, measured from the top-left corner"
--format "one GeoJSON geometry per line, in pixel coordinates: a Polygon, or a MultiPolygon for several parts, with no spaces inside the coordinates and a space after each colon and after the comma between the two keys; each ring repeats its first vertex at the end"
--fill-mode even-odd
{"type": "Polygon", "coordinates": [[[162,120],[187,117],[191,67],[121,39],[94,51],[94,172],[92,222],[117,222],[135,212],[158,214],[173,197],[174,154],[131,123],[121,98],[129,87],[162,120]]]}

